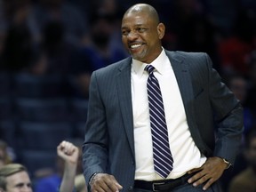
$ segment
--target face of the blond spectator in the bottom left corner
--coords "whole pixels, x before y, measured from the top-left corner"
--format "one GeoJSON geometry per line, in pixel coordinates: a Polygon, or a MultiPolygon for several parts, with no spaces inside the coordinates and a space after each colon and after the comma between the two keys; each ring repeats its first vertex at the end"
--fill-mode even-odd
{"type": "Polygon", "coordinates": [[[6,178],[6,192],[32,192],[28,172],[17,172],[6,178]]]}

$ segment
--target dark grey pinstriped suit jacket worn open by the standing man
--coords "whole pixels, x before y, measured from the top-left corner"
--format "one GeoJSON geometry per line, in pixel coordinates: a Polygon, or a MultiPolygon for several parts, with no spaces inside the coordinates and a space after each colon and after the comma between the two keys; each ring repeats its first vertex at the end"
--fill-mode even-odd
{"type": "MultiPolygon", "coordinates": [[[[243,132],[239,101],[220,82],[207,54],[165,52],[196,146],[204,156],[220,156],[234,164],[243,132]]],[[[108,172],[123,191],[132,190],[135,172],[131,62],[126,58],[92,73],[83,146],[85,180],[94,172],[108,172]]]]}

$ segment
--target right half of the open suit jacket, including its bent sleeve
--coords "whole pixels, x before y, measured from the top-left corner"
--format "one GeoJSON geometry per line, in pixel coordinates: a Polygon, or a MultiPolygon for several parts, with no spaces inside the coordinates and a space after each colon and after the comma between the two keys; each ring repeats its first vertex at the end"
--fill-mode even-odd
{"type": "Polygon", "coordinates": [[[239,100],[221,82],[206,53],[167,53],[196,146],[204,156],[220,156],[234,164],[244,130],[239,100]]]}

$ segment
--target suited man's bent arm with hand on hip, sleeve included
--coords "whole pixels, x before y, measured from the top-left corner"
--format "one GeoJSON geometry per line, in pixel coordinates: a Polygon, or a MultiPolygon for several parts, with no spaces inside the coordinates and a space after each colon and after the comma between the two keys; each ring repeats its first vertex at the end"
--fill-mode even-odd
{"type": "Polygon", "coordinates": [[[205,58],[209,76],[205,82],[208,81],[207,90],[217,124],[216,142],[213,156],[208,157],[202,167],[191,170],[190,172],[197,173],[188,180],[195,187],[204,183],[204,190],[220,179],[228,168],[227,161],[234,164],[243,133],[243,108],[239,100],[221,83],[219,74],[212,68],[209,56],[205,54],[205,58]]]}

